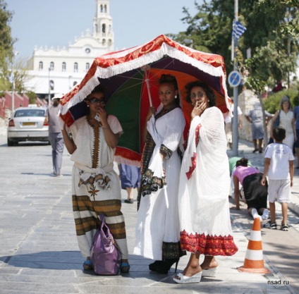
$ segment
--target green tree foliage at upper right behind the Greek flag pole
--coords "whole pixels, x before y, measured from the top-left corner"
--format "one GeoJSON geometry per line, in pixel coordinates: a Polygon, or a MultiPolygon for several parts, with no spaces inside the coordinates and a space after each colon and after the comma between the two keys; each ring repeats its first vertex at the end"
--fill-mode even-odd
{"type": "MultiPolygon", "coordinates": [[[[272,84],[288,80],[290,73],[295,71],[298,56],[298,0],[247,0],[238,4],[238,20],[247,28],[238,40],[238,66],[241,72],[249,69],[250,76],[257,75],[248,87],[256,86],[258,80],[272,84]],[[248,49],[252,60],[246,64],[248,49]],[[254,62],[257,60],[262,67],[254,62]]],[[[190,15],[188,8],[183,8],[185,17],[182,20],[188,28],[171,37],[182,43],[192,39],[195,49],[224,56],[227,72],[232,71],[234,0],[204,0],[202,5],[195,1],[195,8],[198,11],[195,16],[190,15]]]]}

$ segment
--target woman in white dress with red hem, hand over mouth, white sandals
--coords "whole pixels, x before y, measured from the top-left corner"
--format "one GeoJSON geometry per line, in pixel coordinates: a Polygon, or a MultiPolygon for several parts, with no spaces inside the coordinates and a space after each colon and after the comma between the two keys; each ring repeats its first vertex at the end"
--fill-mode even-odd
{"type": "Polygon", "coordinates": [[[183,273],[173,277],[177,283],[200,282],[202,275],[215,276],[218,263],[214,256],[238,251],[228,206],[230,177],[224,116],[205,83],[191,82],[186,90],[186,100],[194,108],[181,167],[178,210],[181,248],[191,255],[183,273]],[[200,255],[205,255],[202,264],[200,255]]]}

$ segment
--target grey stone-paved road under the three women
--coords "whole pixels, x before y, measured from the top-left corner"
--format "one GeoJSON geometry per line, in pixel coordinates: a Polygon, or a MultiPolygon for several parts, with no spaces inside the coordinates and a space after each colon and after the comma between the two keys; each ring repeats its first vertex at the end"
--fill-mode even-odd
{"type": "MultiPolygon", "coordinates": [[[[250,143],[242,143],[240,148],[256,166],[262,166],[262,157],[251,154],[250,143]]],[[[231,209],[238,253],[219,257],[221,267],[216,278],[182,286],[172,281],[173,269],[168,275],[154,274],[147,267],[150,260],[132,255],[136,203],[123,203],[131,271],[94,276],[82,271],[84,259],[78,250],[71,211],[72,163],[68,153],[63,154],[63,178],[53,178],[49,145],[26,142],[7,147],[6,136],[0,131],[0,166],[1,294],[299,293],[299,218],[293,212],[289,214],[289,232],[262,228],[264,264],[272,276],[236,270],[243,265],[252,228],[244,206],[241,211],[231,209]]],[[[294,191],[299,192],[297,186],[294,191]]],[[[126,199],[125,191],[122,197],[126,199]]],[[[187,262],[188,257],[183,257],[178,269],[183,270],[187,262]]]]}

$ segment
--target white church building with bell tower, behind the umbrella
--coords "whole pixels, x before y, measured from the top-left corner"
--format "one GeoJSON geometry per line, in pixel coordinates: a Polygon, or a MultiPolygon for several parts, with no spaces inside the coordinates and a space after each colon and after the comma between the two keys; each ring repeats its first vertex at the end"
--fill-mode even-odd
{"type": "Polygon", "coordinates": [[[31,77],[25,87],[40,98],[67,93],[79,83],[94,58],[114,50],[114,31],[109,11],[110,0],[95,0],[92,33],[87,30],[74,44],[63,48],[35,48],[29,61],[31,77]]]}

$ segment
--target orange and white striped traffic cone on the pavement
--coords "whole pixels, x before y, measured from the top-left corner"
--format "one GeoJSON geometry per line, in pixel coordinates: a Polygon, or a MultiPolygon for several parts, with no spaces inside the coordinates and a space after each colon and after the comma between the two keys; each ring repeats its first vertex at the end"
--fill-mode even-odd
{"type": "Polygon", "coordinates": [[[256,218],[255,221],[253,221],[245,261],[243,267],[237,267],[237,269],[238,271],[256,274],[268,274],[270,272],[269,269],[264,267],[260,218],[256,218]]]}

